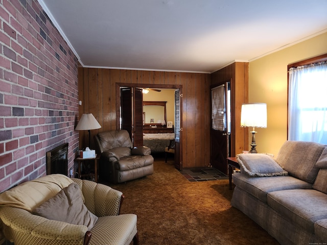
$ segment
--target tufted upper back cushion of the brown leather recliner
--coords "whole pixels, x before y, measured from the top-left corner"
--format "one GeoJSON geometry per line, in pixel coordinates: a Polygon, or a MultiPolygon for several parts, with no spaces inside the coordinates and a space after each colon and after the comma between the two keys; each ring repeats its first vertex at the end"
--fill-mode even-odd
{"type": "Polygon", "coordinates": [[[98,137],[104,152],[116,147],[133,147],[129,133],[126,130],[100,132],[98,137]]]}

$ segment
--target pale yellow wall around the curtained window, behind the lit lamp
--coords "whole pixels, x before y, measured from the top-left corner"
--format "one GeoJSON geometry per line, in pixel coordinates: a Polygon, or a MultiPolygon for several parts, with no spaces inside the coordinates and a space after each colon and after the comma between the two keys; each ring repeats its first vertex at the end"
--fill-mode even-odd
{"type": "Polygon", "coordinates": [[[250,61],[249,102],[267,103],[268,113],[267,128],[256,130],[258,152],[276,156],[287,140],[287,65],[325,53],[327,33],[250,61]]]}

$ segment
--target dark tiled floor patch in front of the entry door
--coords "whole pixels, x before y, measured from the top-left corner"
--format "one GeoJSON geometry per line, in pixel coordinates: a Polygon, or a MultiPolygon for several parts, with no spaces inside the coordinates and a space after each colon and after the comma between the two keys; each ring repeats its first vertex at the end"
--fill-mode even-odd
{"type": "Polygon", "coordinates": [[[188,181],[227,180],[228,176],[213,167],[190,167],[179,170],[188,181]]]}

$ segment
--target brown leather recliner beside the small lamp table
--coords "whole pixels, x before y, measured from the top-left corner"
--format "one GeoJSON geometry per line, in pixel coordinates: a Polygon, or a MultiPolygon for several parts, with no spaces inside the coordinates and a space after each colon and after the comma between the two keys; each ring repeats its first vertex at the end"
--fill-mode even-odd
{"type": "Polygon", "coordinates": [[[150,148],[133,148],[126,130],[101,132],[94,138],[96,151],[101,153],[100,180],[122,183],[153,174],[150,148]]]}

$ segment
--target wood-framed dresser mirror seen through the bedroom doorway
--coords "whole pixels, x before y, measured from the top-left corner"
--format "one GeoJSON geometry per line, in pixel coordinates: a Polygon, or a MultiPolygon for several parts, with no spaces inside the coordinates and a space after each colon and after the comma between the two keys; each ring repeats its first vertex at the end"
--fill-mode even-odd
{"type": "Polygon", "coordinates": [[[143,124],[145,126],[161,125],[166,118],[166,101],[144,101],[143,102],[143,124]]]}

